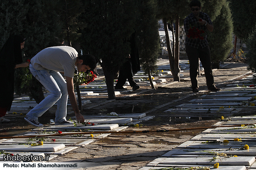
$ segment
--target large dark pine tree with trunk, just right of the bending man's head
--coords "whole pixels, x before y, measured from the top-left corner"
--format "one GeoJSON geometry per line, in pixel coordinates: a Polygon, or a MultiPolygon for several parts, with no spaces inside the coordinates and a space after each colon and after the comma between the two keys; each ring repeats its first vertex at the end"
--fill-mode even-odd
{"type": "Polygon", "coordinates": [[[109,99],[115,99],[114,76],[130,53],[127,41],[134,32],[133,1],[88,0],[81,19],[86,27],[80,39],[83,53],[97,58],[104,71],[109,99]]]}

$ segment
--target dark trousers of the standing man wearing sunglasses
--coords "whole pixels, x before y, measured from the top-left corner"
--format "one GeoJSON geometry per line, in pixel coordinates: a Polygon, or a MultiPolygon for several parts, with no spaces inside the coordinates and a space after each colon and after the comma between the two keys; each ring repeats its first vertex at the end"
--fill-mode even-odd
{"type": "Polygon", "coordinates": [[[206,78],[206,85],[208,89],[215,87],[214,85],[214,78],[213,78],[213,71],[211,68],[211,53],[209,46],[205,48],[194,48],[191,46],[186,46],[186,53],[189,58],[189,73],[190,73],[190,80],[192,84],[192,89],[199,88],[197,83],[197,75],[198,75],[198,67],[199,67],[199,59],[202,63],[204,68],[204,74],[206,78]]]}

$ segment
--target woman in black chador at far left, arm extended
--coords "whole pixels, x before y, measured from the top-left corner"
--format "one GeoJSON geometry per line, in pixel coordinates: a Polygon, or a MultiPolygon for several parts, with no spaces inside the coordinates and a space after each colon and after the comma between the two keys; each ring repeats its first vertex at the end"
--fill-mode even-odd
{"type": "Polygon", "coordinates": [[[22,63],[21,49],[25,39],[19,35],[10,36],[0,51],[0,123],[9,122],[5,119],[7,110],[10,111],[14,94],[14,69],[27,67],[22,63]]]}

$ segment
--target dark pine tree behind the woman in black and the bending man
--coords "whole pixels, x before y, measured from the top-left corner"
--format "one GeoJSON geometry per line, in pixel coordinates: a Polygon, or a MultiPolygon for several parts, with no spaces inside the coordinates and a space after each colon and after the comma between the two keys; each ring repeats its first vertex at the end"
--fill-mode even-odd
{"type": "MultiPolygon", "coordinates": [[[[0,38],[1,47],[10,34],[21,34],[26,37],[23,49],[24,62],[36,53],[49,46],[58,45],[62,40],[61,22],[55,12],[57,1],[50,0],[2,0],[0,6],[0,38]]],[[[29,75],[28,68],[17,68],[15,78],[15,92],[28,94],[37,103],[44,99],[42,85],[29,75]],[[28,77],[24,75],[28,74],[28,77]],[[29,78],[30,80],[24,80],[29,78]],[[21,88],[21,82],[27,81],[21,88]],[[32,79],[32,80],[31,80],[32,79]]]]}

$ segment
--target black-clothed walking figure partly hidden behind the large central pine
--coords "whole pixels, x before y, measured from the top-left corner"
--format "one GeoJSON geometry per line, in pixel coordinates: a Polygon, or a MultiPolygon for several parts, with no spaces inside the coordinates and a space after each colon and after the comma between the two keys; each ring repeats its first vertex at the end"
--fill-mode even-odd
{"type": "Polygon", "coordinates": [[[132,90],[137,90],[138,88],[140,88],[140,86],[137,85],[134,80],[134,75],[138,71],[140,71],[140,59],[138,55],[135,32],[131,35],[129,42],[131,47],[131,53],[129,57],[125,59],[125,63],[123,63],[123,65],[119,68],[118,82],[115,86],[116,90],[127,90],[127,88],[123,88],[126,79],[128,79],[132,90]]]}

